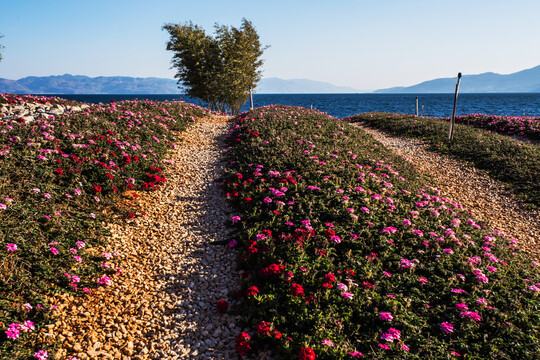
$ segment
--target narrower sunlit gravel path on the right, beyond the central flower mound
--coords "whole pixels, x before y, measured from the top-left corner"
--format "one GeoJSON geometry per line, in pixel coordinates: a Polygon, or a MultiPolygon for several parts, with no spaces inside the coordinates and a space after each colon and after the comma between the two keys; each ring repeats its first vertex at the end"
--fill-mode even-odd
{"type": "Polygon", "coordinates": [[[426,150],[420,140],[391,137],[362,124],[354,124],[385,147],[395,150],[420,172],[431,175],[441,194],[462,204],[478,219],[518,240],[521,248],[540,261],[540,211],[528,210],[503,183],[462,161],[426,150]]]}

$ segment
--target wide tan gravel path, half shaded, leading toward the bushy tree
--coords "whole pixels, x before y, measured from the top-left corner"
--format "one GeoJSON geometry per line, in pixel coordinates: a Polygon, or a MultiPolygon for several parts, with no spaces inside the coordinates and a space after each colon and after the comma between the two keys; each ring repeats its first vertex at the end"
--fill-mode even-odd
{"type": "MultiPolygon", "coordinates": [[[[229,239],[232,214],[213,180],[224,164],[226,118],[199,122],[182,135],[161,191],[130,201],[146,215],[118,226],[112,249],[121,274],[92,296],[58,297],[50,337],[63,341],[56,358],[229,359],[239,319],[216,303],[239,286],[229,239]]],[[[105,249],[104,249],[105,250],[105,249]]],[[[107,262],[111,267],[114,258],[107,262]]]]}

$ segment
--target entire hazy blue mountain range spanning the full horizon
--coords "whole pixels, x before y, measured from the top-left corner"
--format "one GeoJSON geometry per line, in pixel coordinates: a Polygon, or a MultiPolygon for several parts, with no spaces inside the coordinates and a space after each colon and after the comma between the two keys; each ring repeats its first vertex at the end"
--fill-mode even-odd
{"type": "MultiPolygon", "coordinates": [[[[457,75],[457,74],[456,74],[457,75]]],[[[452,93],[456,77],[441,78],[413,86],[376,90],[376,93],[452,93]]],[[[28,76],[19,80],[0,78],[0,93],[15,94],[181,94],[174,79],[128,76],[54,75],[28,76]]],[[[255,89],[258,94],[329,94],[366,91],[336,86],[307,79],[262,79],[255,89]]],[[[528,93],[540,92],[540,66],[501,75],[492,72],[463,75],[461,93],[528,93]]]]}

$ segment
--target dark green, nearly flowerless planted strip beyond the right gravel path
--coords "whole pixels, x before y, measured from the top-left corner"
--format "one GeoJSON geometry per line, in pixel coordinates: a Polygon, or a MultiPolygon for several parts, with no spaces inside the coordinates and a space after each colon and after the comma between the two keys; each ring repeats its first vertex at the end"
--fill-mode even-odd
{"type": "Polygon", "coordinates": [[[396,136],[422,139],[429,149],[465,160],[503,181],[523,200],[540,206],[540,146],[483,129],[457,124],[448,141],[448,123],[414,115],[365,113],[344,119],[396,136]]]}

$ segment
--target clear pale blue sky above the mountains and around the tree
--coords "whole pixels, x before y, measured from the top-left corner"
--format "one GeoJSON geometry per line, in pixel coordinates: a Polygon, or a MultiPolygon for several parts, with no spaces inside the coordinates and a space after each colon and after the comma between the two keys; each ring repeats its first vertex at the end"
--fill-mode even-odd
{"type": "Polygon", "coordinates": [[[538,0],[0,0],[0,78],[174,77],[166,23],[251,20],[263,77],[360,90],[540,65],[538,0]]]}

